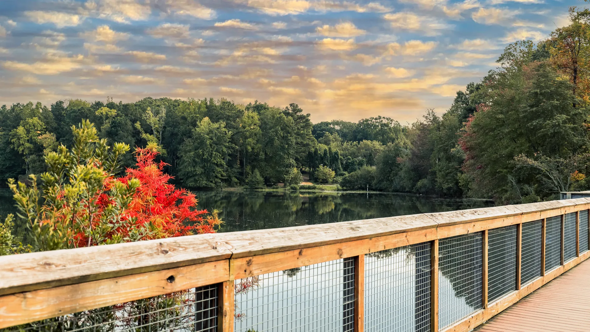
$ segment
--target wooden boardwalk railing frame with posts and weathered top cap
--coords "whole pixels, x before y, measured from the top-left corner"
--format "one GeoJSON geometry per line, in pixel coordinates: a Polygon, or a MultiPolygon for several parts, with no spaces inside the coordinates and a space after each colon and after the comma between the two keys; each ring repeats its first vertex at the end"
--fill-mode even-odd
{"type": "MultiPolygon", "coordinates": [[[[218,285],[218,331],[234,330],[234,281],[353,258],[354,331],[363,331],[365,255],[430,242],[430,331],[470,331],[590,255],[579,212],[590,198],[218,233],[0,257],[0,328],[218,285]],[[565,261],[564,216],[576,216],[576,255],[565,261]],[[546,219],[561,217],[561,264],[545,269],[546,219]],[[572,215],[568,215],[572,216],[572,215]],[[540,276],[521,284],[522,224],[542,220],[540,276]],[[489,231],[516,225],[513,291],[487,300],[489,231]],[[439,240],[481,234],[481,309],[439,329],[439,240]]],[[[586,215],[586,214],[585,214],[586,215]]],[[[588,223],[586,223],[588,224],[588,223]]],[[[586,237],[587,238],[587,237],[586,237]]],[[[237,331],[241,332],[241,331],[237,331]]]]}

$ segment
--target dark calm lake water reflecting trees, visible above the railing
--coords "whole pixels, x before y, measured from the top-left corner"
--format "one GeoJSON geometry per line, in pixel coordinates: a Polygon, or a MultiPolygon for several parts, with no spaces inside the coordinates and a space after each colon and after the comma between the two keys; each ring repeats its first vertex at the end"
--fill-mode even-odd
{"type": "MultiPolygon", "coordinates": [[[[221,232],[346,222],[349,220],[474,209],[493,202],[393,193],[336,191],[196,191],[199,209],[221,210],[221,232]]],[[[0,216],[15,213],[9,190],[0,190],[0,216]]],[[[15,227],[26,239],[22,225],[15,227]]]]}

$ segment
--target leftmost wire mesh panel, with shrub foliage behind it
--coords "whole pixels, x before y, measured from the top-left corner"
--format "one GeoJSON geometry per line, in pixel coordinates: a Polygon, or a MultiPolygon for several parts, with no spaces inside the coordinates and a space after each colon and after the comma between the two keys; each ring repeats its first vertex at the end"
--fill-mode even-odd
{"type": "Polygon", "coordinates": [[[8,327],[3,332],[217,332],[217,289],[217,285],[191,288],[8,327]]]}

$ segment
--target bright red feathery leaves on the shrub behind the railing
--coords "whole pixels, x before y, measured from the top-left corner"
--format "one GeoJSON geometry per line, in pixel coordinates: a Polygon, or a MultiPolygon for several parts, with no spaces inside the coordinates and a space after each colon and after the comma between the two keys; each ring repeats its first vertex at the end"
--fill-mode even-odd
{"type": "Polygon", "coordinates": [[[141,183],[129,206],[130,216],[136,217],[137,223],[153,223],[158,229],[156,238],[216,232],[221,223],[217,213],[195,209],[195,194],[168,183],[172,177],[162,171],[167,164],[154,161],[158,151],[137,148],[134,154],[137,168],[127,168],[126,176],[117,180],[127,183],[136,178],[141,183]]]}

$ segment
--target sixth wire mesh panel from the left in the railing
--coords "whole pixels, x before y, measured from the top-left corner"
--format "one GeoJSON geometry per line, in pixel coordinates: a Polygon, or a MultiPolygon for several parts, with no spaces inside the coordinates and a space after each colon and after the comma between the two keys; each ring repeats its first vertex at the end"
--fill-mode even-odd
{"type": "Polygon", "coordinates": [[[520,284],[526,285],[541,276],[541,220],[522,224],[520,284]]]}

